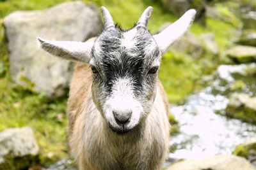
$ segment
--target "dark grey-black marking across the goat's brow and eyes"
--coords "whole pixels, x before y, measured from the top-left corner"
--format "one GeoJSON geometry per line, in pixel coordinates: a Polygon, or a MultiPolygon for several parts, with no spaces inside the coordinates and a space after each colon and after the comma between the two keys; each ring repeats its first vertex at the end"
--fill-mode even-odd
{"type": "Polygon", "coordinates": [[[129,77],[135,96],[143,93],[143,81],[150,85],[154,75],[147,75],[150,64],[159,57],[159,48],[145,27],[134,27],[136,34],[132,38],[131,48],[123,46],[124,32],[122,29],[105,30],[97,39],[99,46],[92,48],[92,59],[99,74],[95,81],[111,95],[113,84],[118,78],[129,77]],[[152,45],[153,44],[153,45],[152,45]],[[148,46],[154,49],[148,51],[148,46]]]}

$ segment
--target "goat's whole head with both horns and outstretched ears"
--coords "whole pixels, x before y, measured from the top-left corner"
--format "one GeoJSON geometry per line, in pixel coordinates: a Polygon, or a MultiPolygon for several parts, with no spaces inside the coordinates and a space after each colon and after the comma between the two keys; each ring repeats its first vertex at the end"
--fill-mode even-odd
{"type": "Polygon", "coordinates": [[[148,7],[132,29],[122,31],[102,7],[104,31],[94,43],[38,38],[41,48],[53,55],[90,63],[93,101],[115,132],[128,132],[145,120],[156,96],[161,56],[195,17],[195,10],[189,10],[152,36],[147,30],[152,9],[148,7]]]}

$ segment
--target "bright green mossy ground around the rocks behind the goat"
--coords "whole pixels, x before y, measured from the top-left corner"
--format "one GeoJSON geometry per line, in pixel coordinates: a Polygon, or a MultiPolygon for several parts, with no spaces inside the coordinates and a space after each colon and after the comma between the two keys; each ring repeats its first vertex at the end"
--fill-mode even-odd
{"type": "MultiPolygon", "coordinates": [[[[47,100],[44,95],[34,94],[31,89],[15,85],[8,74],[8,50],[4,37],[3,18],[15,10],[42,10],[67,0],[8,0],[0,1],[0,131],[8,127],[32,127],[40,146],[40,164],[50,164],[67,156],[67,97],[47,100]]],[[[122,27],[132,27],[147,6],[154,7],[148,29],[155,32],[165,22],[174,22],[178,17],[166,12],[154,1],[84,1],[97,7],[106,6],[113,20],[122,27]]],[[[196,35],[214,32],[221,50],[230,45],[236,27],[221,20],[207,18],[207,26],[194,24],[191,31],[196,35]]],[[[195,59],[189,54],[171,51],[162,59],[159,78],[171,103],[180,103],[185,96],[204,85],[200,79],[218,66],[218,56],[205,55],[195,59]]]]}

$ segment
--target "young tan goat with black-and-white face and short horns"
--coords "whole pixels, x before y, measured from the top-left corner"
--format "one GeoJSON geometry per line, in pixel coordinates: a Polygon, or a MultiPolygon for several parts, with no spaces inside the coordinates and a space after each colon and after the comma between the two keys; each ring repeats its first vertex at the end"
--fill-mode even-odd
{"type": "Polygon", "coordinates": [[[161,56],[195,10],[152,36],[153,8],[124,31],[100,8],[104,30],[86,42],[38,38],[46,52],[77,62],[68,98],[68,143],[79,169],[160,169],[168,153],[168,100],[157,78],[161,56]]]}

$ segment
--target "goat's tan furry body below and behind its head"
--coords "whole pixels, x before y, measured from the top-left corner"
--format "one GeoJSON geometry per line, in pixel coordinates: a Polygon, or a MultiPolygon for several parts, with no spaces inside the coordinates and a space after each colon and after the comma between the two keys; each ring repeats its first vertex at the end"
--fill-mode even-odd
{"type": "Polygon", "coordinates": [[[68,99],[68,139],[79,169],[160,169],[168,151],[168,101],[160,81],[151,112],[127,134],[109,129],[92,99],[92,71],[76,64],[68,99]]]}

